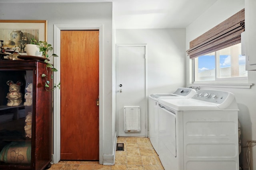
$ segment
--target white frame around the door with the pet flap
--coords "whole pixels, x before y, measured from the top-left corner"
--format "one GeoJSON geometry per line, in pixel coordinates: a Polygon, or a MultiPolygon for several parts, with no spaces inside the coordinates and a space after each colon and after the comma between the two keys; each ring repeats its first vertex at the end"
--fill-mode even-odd
{"type": "MultiPolygon", "coordinates": [[[[145,47],[145,136],[148,137],[148,46],[147,44],[116,44],[116,134],[118,135],[118,47],[145,47]]],[[[144,125],[141,125],[144,126],[144,125]]]]}

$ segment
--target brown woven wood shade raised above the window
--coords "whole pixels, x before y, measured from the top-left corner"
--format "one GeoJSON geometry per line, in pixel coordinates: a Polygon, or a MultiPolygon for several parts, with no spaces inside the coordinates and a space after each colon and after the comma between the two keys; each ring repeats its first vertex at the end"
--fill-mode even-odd
{"type": "Polygon", "coordinates": [[[190,59],[230,47],[241,42],[244,31],[244,9],[190,41],[190,59]]]}

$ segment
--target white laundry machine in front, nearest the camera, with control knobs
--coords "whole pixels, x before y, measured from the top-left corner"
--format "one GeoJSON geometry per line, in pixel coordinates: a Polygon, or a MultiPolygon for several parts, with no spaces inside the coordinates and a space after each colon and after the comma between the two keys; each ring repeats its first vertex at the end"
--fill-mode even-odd
{"type": "Polygon", "coordinates": [[[198,90],[188,99],[160,99],[159,158],[166,170],[239,170],[234,94],[198,90]]]}

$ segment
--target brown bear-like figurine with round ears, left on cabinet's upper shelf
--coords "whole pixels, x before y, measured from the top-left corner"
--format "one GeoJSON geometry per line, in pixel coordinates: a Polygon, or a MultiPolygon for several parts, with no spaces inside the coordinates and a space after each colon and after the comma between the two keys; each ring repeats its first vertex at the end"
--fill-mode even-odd
{"type": "Polygon", "coordinates": [[[16,84],[12,80],[6,82],[9,87],[9,93],[7,93],[6,98],[8,98],[7,106],[19,106],[22,103],[22,93],[20,92],[20,86],[22,82],[18,81],[16,84]]]}

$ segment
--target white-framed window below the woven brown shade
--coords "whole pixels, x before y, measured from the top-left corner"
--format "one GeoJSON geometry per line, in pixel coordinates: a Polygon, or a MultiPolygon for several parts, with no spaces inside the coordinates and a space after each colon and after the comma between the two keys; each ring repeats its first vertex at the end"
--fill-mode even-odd
{"type": "Polygon", "coordinates": [[[194,59],[195,81],[230,80],[247,77],[241,43],[194,59]]]}

